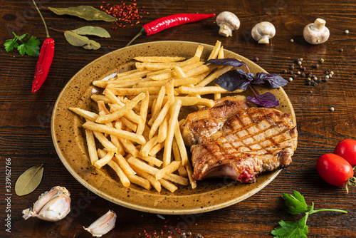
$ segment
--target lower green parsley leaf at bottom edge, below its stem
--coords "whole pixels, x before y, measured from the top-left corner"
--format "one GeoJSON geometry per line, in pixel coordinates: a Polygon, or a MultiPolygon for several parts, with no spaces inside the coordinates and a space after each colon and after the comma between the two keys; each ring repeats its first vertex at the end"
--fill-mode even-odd
{"type": "Polygon", "coordinates": [[[305,215],[298,222],[285,222],[282,220],[279,222],[281,227],[276,227],[271,234],[275,235],[275,238],[307,238],[307,219],[308,215],[305,215]]]}

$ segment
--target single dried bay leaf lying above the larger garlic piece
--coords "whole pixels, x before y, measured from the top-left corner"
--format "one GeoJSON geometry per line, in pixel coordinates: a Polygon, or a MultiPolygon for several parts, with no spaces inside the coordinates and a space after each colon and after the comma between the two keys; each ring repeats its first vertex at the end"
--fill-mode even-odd
{"type": "Polygon", "coordinates": [[[15,192],[18,196],[28,195],[36,190],[43,176],[43,165],[33,166],[23,172],[15,184],[15,192]]]}

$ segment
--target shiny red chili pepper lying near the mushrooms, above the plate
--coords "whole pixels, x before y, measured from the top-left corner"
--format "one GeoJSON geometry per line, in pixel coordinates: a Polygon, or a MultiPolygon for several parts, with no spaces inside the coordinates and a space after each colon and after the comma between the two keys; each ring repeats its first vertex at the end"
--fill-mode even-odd
{"type": "Polygon", "coordinates": [[[135,39],[142,34],[150,36],[174,26],[209,19],[213,16],[215,16],[215,14],[174,14],[171,16],[161,17],[155,21],[151,21],[150,23],[143,25],[141,31],[134,38],[132,38],[126,46],[130,46],[130,43],[135,41],[135,39]]]}

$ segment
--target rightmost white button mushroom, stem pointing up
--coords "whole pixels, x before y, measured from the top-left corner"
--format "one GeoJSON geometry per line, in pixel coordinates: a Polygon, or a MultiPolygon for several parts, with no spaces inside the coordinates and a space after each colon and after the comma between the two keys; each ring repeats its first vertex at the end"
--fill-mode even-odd
{"type": "Polygon", "coordinates": [[[316,19],[314,23],[306,25],[303,31],[305,41],[308,41],[308,43],[313,45],[328,41],[330,31],[325,24],[326,21],[324,19],[316,19]]]}

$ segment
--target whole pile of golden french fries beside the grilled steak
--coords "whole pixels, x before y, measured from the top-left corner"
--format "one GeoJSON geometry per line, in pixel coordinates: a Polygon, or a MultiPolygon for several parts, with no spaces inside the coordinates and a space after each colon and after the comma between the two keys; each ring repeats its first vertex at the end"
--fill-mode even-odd
{"type": "MultiPolygon", "coordinates": [[[[68,108],[86,120],[83,128],[93,166],[111,167],[124,187],[133,183],[157,192],[162,187],[174,192],[177,185],[197,187],[180,130],[184,119],[179,118],[179,111],[184,106],[214,106],[214,100],[201,95],[220,98],[221,93],[242,91],[229,92],[211,85],[233,67],[206,66],[201,61],[203,50],[198,46],[194,56],[187,59],[138,56],[134,58],[136,69],[93,81],[93,86],[103,88],[103,95],[90,97],[98,111],[68,108]]],[[[224,58],[220,41],[211,58],[224,58]]]]}

